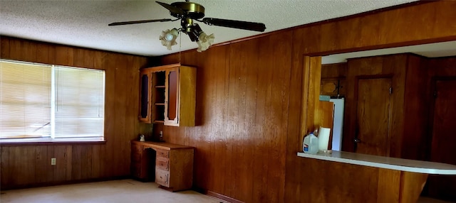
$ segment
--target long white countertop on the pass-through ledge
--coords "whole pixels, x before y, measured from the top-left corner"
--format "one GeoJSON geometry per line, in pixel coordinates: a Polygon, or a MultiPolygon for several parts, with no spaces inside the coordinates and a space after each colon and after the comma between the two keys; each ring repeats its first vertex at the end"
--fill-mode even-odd
{"type": "Polygon", "coordinates": [[[319,160],[329,160],[340,163],[350,163],[355,165],[366,165],[376,168],[386,168],[392,170],[402,170],[408,172],[420,172],[438,175],[456,175],[456,165],[446,163],[436,163],[421,160],[410,160],[403,158],[390,158],[378,155],[366,155],[361,153],[349,153],[334,151],[332,153],[298,153],[304,158],[315,158],[319,160]]]}

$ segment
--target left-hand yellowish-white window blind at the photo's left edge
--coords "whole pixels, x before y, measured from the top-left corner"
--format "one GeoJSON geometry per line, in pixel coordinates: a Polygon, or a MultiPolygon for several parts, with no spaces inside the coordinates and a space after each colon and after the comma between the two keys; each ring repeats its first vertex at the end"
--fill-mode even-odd
{"type": "Polygon", "coordinates": [[[0,62],[1,138],[51,136],[51,66],[0,62]]]}

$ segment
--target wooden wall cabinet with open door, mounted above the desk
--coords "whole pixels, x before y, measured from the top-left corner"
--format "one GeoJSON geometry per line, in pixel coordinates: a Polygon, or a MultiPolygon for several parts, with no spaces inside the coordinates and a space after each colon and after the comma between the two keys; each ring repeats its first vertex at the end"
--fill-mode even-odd
{"type": "Polygon", "coordinates": [[[180,64],[140,72],[140,121],[195,126],[196,68],[180,64]]]}

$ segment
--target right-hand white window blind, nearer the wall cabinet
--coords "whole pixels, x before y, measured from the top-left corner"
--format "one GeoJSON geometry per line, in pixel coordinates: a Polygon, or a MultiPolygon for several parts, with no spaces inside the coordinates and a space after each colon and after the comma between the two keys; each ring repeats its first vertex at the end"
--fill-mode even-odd
{"type": "Polygon", "coordinates": [[[56,67],[54,78],[55,138],[103,140],[103,71],[56,67]]]}

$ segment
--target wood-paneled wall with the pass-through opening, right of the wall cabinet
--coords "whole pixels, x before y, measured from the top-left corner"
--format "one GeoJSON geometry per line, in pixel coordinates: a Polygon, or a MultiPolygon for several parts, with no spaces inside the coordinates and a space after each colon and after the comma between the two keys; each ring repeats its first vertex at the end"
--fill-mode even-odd
{"type": "Polygon", "coordinates": [[[165,140],[196,147],[200,190],[242,202],[375,202],[378,179],[368,177],[378,171],[296,156],[319,92],[318,57],[306,56],[455,40],[455,6],[422,2],[163,56],[197,67],[197,126],[164,126],[165,140]]]}

